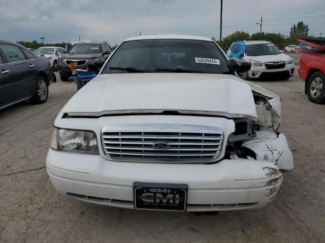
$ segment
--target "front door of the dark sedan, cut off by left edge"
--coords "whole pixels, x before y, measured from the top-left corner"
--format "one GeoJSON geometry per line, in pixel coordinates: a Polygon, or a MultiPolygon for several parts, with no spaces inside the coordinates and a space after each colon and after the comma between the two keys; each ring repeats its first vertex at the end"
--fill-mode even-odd
{"type": "Polygon", "coordinates": [[[14,99],[14,84],[8,63],[0,50],[0,106],[14,99]]]}

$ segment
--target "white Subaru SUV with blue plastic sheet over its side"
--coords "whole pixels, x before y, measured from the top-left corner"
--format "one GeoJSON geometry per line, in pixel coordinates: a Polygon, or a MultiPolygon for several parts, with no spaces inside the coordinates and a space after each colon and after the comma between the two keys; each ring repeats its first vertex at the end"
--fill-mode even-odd
{"type": "Polygon", "coordinates": [[[251,69],[241,73],[241,78],[281,78],[294,75],[294,59],[283,54],[271,42],[244,41],[234,42],[227,52],[228,57],[250,62],[251,69]]]}

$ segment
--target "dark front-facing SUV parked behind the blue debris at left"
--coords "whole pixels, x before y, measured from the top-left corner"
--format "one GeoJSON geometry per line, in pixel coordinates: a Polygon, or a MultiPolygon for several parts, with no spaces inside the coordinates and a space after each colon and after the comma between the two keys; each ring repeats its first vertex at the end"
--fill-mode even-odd
{"type": "Polygon", "coordinates": [[[68,81],[72,76],[69,68],[71,62],[77,62],[77,68],[85,69],[90,62],[99,62],[103,65],[112,52],[112,48],[106,42],[77,42],[67,53],[61,55],[59,61],[60,77],[62,81],[68,81]]]}

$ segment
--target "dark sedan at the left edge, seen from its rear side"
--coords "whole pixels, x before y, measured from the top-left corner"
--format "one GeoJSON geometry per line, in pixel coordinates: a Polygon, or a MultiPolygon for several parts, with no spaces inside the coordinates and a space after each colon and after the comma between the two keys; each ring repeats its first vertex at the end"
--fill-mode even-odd
{"type": "Polygon", "coordinates": [[[0,109],[29,99],[45,103],[56,82],[51,64],[23,46],[0,41],[0,109]]]}

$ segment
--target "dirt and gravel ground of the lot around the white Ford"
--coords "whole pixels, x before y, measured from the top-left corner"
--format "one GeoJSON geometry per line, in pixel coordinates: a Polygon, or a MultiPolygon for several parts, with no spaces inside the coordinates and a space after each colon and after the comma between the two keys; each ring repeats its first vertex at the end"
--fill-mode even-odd
{"type": "Polygon", "coordinates": [[[255,83],[282,97],[281,132],[295,158],[267,208],[197,216],[59,195],[44,169],[54,117],[74,94],[59,80],[47,103],[0,110],[0,242],[324,242],[325,105],[309,102],[297,73],[255,83]]]}

